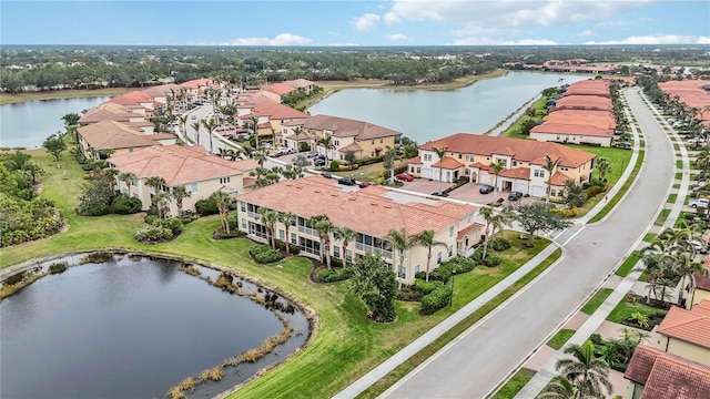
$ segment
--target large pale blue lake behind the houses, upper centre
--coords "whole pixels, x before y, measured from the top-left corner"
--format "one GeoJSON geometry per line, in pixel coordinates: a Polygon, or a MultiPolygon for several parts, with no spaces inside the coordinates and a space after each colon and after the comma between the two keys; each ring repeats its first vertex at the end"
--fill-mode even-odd
{"type": "Polygon", "coordinates": [[[308,109],[396,130],[419,144],[454,133],[484,133],[544,89],[589,79],[539,72],[509,72],[455,90],[346,89],[308,109]]]}

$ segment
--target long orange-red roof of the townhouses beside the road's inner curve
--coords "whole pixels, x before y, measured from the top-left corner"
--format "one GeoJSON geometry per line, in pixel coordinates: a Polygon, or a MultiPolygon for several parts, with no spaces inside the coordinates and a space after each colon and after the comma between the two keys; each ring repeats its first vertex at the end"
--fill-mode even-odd
{"type": "Polygon", "coordinates": [[[540,156],[549,155],[551,158],[560,158],[559,165],[565,167],[578,167],[596,157],[595,154],[582,150],[572,149],[557,143],[538,142],[535,140],[521,140],[497,137],[473,133],[457,133],[433,142],[419,145],[420,150],[432,151],[433,147],[448,147],[449,152],[490,156],[500,154],[501,151],[511,152],[516,161],[530,162],[540,156]]]}

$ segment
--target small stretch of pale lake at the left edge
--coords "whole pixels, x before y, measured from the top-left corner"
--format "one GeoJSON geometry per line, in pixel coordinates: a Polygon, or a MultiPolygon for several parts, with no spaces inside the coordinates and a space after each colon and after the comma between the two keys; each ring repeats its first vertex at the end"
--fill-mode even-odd
{"type": "Polygon", "coordinates": [[[64,130],[62,116],[72,112],[81,115],[83,110],[94,108],[110,99],[110,96],[93,96],[32,100],[0,105],[0,132],[2,132],[0,146],[40,147],[50,134],[64,130]]]}

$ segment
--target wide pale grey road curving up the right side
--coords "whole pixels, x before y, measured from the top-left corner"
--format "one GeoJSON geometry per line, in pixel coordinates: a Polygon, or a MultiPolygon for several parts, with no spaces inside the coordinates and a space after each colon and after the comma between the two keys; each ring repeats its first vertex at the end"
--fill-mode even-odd
{"type": "Polygon", "coordinates": [[[636,91],[627,99],[646,139],[636,185],[600,223],[575,226],[558,242],[565,256],[507,306],[458,337],[387,398],[483,398],[561,324],[633,249],[668,196],[673,149],[636,91]]]}

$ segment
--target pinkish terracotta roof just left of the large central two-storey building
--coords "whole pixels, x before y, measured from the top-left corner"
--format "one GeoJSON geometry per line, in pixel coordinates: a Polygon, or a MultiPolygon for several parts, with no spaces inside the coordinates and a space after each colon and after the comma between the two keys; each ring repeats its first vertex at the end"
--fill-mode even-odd
{"type": "Polygon", "coordinates": [[[254,160],[232,162],[206,154],[202,145],[153,146],[111,156],[109,162],[140,178],[163,177],[168,186],[246,174],[258,166],[254,160]]]}

